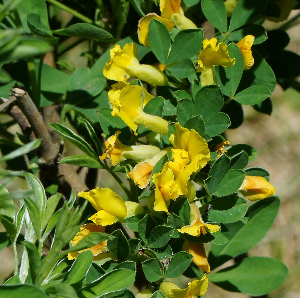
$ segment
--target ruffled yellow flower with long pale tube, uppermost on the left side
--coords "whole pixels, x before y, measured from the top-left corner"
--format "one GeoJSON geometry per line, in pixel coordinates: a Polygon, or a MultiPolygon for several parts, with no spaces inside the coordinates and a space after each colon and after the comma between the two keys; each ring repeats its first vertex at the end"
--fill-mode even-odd
{"type": "Polygon", "coordinates": [[[153,85],[168,86],[168,78],[161,70],[153,65],[140,64],[137,50],[133,42],[125,44],[122,50],[119,44],[116,44],[110,50],[110,60],[103,68],[104,76],[115,81],[127,81],[136,76],[153,85]]]}

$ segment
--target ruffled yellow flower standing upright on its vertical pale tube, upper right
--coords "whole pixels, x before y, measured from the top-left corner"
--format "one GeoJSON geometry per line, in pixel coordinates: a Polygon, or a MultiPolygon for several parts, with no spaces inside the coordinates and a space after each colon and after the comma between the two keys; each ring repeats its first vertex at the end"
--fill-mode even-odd
{"type": "Polygon", "coordinates": [[[200,83],[203,86],[213,85],[214,78],[214,65],[223,65],[224,67],[232,67],[235,64],[235,58],[231,59],[227,45],[220,42],[217,45],[217,38],[210,40],[204,39],[203,50],[198,58],[199,67],[197,72],[201,72],[200,83]]]}

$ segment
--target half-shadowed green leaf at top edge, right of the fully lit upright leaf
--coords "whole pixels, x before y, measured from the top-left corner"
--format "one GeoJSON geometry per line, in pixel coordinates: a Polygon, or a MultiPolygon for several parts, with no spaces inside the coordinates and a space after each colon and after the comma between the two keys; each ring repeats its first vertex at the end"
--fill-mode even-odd
{"type": "Polygon", "coordinates": [[[229,32],[246,24],[262,13],[267,4],[266,0],[241,0],[235,6],[229,25],[229,32]]]}

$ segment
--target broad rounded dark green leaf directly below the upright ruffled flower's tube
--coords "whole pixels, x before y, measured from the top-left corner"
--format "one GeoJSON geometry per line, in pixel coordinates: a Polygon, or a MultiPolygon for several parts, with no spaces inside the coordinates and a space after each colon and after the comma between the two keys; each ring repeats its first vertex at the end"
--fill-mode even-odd
{"type": "Polygon", "coordinates": [[[203,120],[206,121],[220,112],[223,104],[224,99],[220,90],[220,86],[205,86],[196,93],[194,102],[194,115],[202,116],[203,120]]]}

